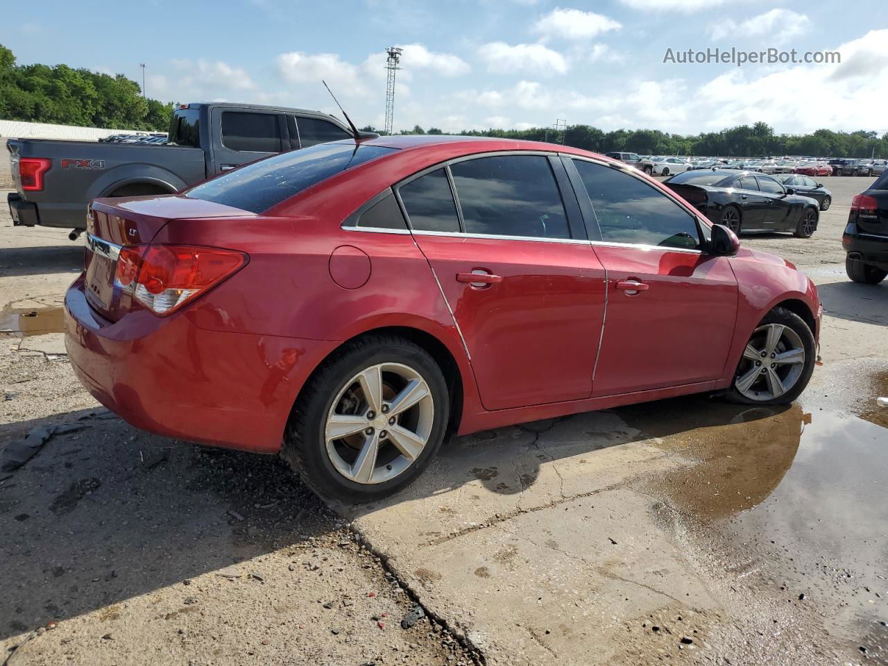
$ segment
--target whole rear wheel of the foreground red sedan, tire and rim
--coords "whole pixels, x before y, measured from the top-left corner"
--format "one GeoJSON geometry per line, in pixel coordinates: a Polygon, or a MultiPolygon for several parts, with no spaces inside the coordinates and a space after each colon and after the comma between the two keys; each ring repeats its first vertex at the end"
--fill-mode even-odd
{"type": "Polygon", "coordinates": [[[281,456],[321,496],[369,502],[416,479],[440,448],[449,411],[429,353],[400,337],[363,337],[305,384],[281,456]]]}

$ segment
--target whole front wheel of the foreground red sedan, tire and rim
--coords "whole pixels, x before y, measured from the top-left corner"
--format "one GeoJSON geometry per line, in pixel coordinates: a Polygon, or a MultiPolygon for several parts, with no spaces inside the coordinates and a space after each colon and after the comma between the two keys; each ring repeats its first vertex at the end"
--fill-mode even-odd
{"type": "Polygon", "coordinates": [[[750,405],[785,405],[811,379],[814,336],[796,313],[775,307],[752,332],[734,373],[728,400],[750,405]]]}

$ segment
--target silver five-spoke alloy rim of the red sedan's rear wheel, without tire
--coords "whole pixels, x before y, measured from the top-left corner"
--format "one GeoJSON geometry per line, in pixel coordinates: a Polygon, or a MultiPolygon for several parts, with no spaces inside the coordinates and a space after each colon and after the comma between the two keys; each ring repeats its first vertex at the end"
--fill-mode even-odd
{"type": "Polygon", "coordinates": [[[432,390],[403,363],[361,370],[337,394],[324,424],[330,462],[346,479],[375,484],[405,472],[434,424],[432,390]]]}

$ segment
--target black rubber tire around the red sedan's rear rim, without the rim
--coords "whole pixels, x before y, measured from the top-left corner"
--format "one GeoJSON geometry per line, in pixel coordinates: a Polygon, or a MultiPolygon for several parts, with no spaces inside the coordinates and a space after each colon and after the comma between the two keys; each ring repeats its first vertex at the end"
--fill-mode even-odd
{"type": "Polygon", "coordinates": [[[321,364],[300,393],[290,415],[281,457],[318,495],[349,503],[372,502],[407,487],[438,452],[447,432],[450,396],[438,364],[422,347],[392,335],[369,335],[344,345],[321,364]],[[327,454],[324,426],[333,400],[346,382],[377,363],[402,363],[416,370],[432,393],[432,429],[422,453],[393,479],[361,484],[337,471],[327,454]]]}

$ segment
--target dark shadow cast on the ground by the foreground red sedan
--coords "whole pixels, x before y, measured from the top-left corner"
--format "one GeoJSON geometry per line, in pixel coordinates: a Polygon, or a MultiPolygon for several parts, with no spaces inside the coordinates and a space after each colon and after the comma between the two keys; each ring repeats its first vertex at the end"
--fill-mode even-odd
{"type": "MultiPolygon", "coordinates": [[[[723,427],[731,437],[722,443],[740,470],[726,496],[757,503],[789,469],[801,420],[797,406],[749,408],[697,396],[480,432],[447,442],[397,495],[339,511],[360,516],[479,481],[511,496],[532,488],[551,463],[594,463],[608,449],[652,438],[666,447],[671,435],[699,429],[710,430],[695,439],[710,442],[723,427]],[[741,453],[748,424],[764,432],[769,453],[741,453]]],[[[336,525],[328,505],[277,456],[165,439],[107,413],[0,426],[0,441],[47,423],[83,428],[52,437],[8,478],[0,473],[0,559],[8,572],[0,577],[0,638],[224,570],[336,525]]],[[[705,460],[708,450],[694,456],[705,460]]],[[[671,473],[681,486],[691,472],[671,473]]]]}

